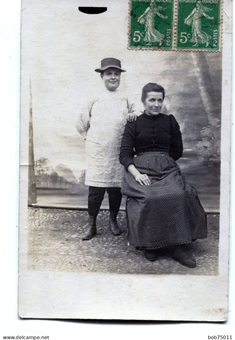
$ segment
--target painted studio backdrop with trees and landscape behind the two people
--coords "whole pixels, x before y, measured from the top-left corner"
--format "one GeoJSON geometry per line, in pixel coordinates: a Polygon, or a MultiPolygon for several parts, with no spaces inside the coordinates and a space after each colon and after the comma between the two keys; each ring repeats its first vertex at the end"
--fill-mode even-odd
{"type": "MultiPolygon", "coordinates": [[[[101,59],[114,57],[127,70],[119,89],[133,98],[137,114],[143,111],[145,84],[165,88],[162,113],[175,116],[183,136],[184,153],[177,163],[205,210],[218,212],[221,53],[128,50],[127,17],[113,24],[118,2],[99,15],[79,12],[75,1],[51,1],[47,11],[36,2],[25,8],[31,17],[30,157],[35,164],[29,172],[29,203],[87,207],[85,141],[75,123],[87,94],[104,87],[95,68],[101,59]]],[[[124,6],[128,13],[128,1],[124,6]]],[[[107,200],[102,207],[108,207],[107,200]]]]}

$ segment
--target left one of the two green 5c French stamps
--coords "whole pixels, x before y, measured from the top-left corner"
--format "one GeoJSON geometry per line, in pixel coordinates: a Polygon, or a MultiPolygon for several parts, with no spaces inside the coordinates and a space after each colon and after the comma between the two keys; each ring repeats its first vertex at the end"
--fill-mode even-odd
{"type": "Polygon", "coordinates": [[[130,49],[171,50],[174,0],[130,0],[130,49]]]}

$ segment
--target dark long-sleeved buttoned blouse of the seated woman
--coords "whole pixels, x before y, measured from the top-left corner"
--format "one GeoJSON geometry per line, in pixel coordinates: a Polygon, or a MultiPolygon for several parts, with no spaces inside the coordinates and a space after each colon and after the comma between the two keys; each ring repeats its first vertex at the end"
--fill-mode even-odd
{"type": "Polygon", "coordinates": [[[130,164],[134,164],[135,153],[148,151],[168,152],[174,160],[182,156],[182,135],[174,116],[160,113],[152,117],[143,113],[136,121],[126,123],[120,163],[127,170],[130,164]]]}

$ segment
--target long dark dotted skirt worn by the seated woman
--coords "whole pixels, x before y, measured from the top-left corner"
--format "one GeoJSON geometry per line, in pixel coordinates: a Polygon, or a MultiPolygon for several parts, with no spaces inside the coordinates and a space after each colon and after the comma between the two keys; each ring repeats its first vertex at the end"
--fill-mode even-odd
{"type": "Polygon", "coordinates": [[[207,236],[206,214],[197,191],[185,182],[177,163],[166,152],[144,152],[135,167],[147,174],[140,185],[125,170],[122,194],[127,195],[127,239],[142,249],[189,243],[207,236]]]}

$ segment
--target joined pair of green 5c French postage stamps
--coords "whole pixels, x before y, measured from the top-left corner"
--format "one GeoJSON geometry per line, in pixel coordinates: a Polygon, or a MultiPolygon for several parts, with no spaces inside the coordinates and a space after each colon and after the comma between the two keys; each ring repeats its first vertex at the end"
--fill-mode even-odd
{"type": "Polygon", "coordinates": [[[221,50],[221,0],[130,0],[129,49],[221,50]]]}

